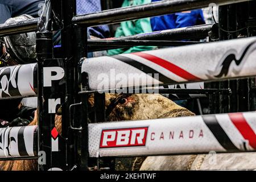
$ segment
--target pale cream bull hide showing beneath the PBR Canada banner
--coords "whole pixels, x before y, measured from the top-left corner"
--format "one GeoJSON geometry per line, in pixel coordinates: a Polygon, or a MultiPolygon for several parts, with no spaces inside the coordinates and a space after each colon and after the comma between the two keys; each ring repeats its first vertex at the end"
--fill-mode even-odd
{"type": "Polygon", "coordinates": [[[149,156],[143,161],[142,171],[174,170],[234,170],[256,169],[256,153],[228,153],[200,155],[149,156]]]}

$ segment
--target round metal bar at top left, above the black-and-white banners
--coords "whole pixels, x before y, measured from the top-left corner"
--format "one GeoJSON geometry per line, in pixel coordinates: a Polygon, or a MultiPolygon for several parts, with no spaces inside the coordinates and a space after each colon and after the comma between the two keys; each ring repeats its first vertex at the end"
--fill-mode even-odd
{"type": "Polygon", "coordinates": [[[0,36],[37,31],[38,21],[39,21],[39,18],[35,18],[35,19],[28,19],[20,22],[0,24],[0,36]]]}

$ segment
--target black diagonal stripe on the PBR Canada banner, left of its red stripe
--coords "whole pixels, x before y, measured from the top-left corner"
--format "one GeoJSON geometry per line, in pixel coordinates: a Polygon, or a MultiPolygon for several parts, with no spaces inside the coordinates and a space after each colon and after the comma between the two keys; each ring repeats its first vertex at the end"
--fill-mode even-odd
{"type": "Polygon", "coordinates": [[[239,149],[232,143],[228,135],[222,129],[215,115],[202,115],[205,124],[208,126],[214,137],[226,150],[238,151],[239,149]]]}

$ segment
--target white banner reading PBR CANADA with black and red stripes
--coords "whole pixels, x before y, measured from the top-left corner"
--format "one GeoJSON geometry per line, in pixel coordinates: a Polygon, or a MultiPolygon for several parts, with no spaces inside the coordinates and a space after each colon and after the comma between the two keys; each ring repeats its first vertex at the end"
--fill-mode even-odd
{"type": "Polygon", "coordinates": [[[89,124],[89,156],[254,151],[256,113],[89,124]]]}

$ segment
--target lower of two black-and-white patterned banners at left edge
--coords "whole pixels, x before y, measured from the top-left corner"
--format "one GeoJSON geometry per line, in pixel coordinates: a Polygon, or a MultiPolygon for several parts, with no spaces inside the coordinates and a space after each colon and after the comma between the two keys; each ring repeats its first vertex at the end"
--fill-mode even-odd
{"type": "Polygon", "coordinates": [[[0,129],[0,158],[35,156],[37,128],[22,126],[0,129]]]}

